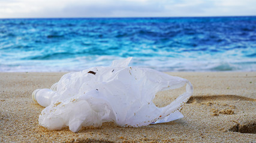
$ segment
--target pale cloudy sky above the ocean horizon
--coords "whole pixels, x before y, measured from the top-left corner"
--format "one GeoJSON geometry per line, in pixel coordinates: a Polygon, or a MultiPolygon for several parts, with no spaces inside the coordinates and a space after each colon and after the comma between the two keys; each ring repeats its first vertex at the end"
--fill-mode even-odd
{"type": "Polygon", "coordinates": [[[0,18],[256,15],[255,0],[0,0],[0,18]]]}

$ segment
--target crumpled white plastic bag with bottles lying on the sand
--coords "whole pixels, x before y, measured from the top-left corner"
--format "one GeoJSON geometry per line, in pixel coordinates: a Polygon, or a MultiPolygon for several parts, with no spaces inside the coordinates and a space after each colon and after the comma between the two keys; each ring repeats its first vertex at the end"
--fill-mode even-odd
{"type": "Polygon", "coordinates": [[[46,107],[38,122],[48,129],[69,126],[146,126],[180,119],[180,109],[192,95],[191,83],[181,77],[147,68],[128,67],[131,58],[115,60],[110,67],[92,67],[67,73],[51,89],[37,89],[32,99],[46,107]],[[158,91],[180,88],[186,92],[171,104],[158,108],[152,100],[158,91]]]}

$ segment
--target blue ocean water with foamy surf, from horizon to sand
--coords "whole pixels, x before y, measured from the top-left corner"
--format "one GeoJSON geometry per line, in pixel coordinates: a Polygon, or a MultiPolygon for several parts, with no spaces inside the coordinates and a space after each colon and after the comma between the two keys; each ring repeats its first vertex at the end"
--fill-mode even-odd
{"type": "Polygon", "coordinates": [[[0,19],[0,71],[79,71],[127,57],[159,71],[256,71],[256,17],[0,19]]]}

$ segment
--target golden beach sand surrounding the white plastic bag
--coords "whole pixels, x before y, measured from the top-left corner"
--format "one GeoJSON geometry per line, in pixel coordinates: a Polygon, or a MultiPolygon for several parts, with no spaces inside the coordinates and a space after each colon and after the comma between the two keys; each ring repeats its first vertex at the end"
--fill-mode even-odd
{"type": "MultiPolygon", "coordinates": [[[[168,73],[188,79],[194,93],[185,116],[169,123],[121,128],[47,130],[38,125],[44,107],[31,100],[65,73],[0,73],[0,142],[256,142],[256,72],[168,73]]],[[[159,92],[153,101],[167,105],[181,90],[159,92]]]]}

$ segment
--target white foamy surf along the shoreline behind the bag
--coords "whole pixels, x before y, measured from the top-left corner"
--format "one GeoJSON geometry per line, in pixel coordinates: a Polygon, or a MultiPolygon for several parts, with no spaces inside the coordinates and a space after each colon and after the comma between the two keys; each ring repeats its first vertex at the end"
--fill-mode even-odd
{"type": "MultiPolygon", "coordinates": [[[[59,72],[79,71],[89,67],[107,66],[121,57],[94,56],[65,60],[23,61],[19,66],[1,65],[2,72],[59,72]]],[[[170,57],[134,57],[131,66],[149,67],[159,71],[256,71],[256,60],[193,60],[170,57]]]]}

